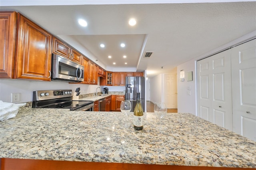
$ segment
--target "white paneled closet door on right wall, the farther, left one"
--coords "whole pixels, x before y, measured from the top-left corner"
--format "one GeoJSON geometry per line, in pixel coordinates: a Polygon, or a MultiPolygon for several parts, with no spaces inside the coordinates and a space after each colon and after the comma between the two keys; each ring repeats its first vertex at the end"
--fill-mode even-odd
{"type": "Polygon", "coordinates": [[[197,62],[198,117],[233,130],[230,50],[197,62]]]}

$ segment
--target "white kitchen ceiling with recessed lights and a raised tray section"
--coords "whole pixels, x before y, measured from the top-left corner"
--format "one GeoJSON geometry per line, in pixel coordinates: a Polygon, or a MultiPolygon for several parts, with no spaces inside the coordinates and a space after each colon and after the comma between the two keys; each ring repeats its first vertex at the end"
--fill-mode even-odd
{"type": "MultiPolygon", "coordinates": [[[[98,59],[104,68],[135,67],[138,71],[147,70],[148,77],[170,73],[177,65],[256,30],[255,1],[182,4],[172,1],[168,4],[170,1],[162,0],[158,2],[166,4],[125,4],[127,1],[116,4],[115,0],[95,0],[97,5],[20,6],[26,5],[25,2],[38,5],[41,1],[23,2],[0,0],[0,11],[21,12],[53,35],[69,36],[92,53],[93,56],[87,57],[98,59]],[[88,26],[79,26],[78,18],[84,18],[88,26]],[[136,18],[136,26],[128,25],[129,18],[136,18]],[[121,48],[121,42],[126,43],[126,47],[121,48]],[[102,49],[100,43],[106,46],[102,49]],[[154,53],[145,58],[145,51],[154,53]],[[108,55],[112,58],[108,59],[108,55]]],[[[82,1],[74,1],[79,2],[82,1]]],[[[92,1],[86,2],[92,4],[92,1]]]]}

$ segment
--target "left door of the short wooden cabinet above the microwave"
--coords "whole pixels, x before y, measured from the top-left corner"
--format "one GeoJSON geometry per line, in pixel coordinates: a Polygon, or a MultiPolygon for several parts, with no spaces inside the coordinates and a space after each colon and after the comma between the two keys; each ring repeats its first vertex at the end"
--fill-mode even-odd
{"type": "Polygon", "coordinates": [[[56,37],[53,37],[52,42],[53,42],[53,49],[52,49],[53,53],[59,54],[63,57],[70,58],[71,49],[66,43],[58,40],[56,37]]]}

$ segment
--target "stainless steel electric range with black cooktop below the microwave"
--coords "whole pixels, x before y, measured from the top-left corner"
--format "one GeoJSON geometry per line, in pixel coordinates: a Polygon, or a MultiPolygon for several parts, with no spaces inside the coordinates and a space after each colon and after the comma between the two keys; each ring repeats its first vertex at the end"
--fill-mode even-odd
{"type": "Polygon", "coordinates": [[[74,101],[72,96],[72,90],[33,91],[32,107],[93,111],[94,101],[74,101]]]}

